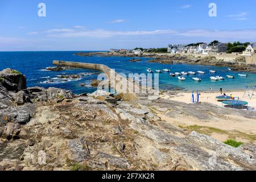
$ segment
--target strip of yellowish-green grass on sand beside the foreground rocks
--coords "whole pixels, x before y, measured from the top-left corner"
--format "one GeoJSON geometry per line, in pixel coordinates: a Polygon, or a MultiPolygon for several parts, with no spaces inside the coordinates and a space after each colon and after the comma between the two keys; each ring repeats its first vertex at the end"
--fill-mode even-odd
{"type": "Polygon", "coordinates": [[[193,126],[179,126],[182,129],[186,129],[188,131],[196,131],[197,133],[205,134],[205,135],[211,135],[213,133],[218,133],[222,135],[227,135],[229,139],[236,139],[236,138],[242,138],[249,140],[250,142],[255,142],[256,141],[256,135],[251,135],[251,134],[246,134],[242,133],[241,131],[225,131],[221,129],[216,129],[214,127],[207,127],[207,126],[198,126],[198,125],[193,125],[193,126]]]}

